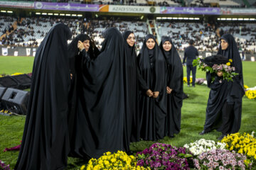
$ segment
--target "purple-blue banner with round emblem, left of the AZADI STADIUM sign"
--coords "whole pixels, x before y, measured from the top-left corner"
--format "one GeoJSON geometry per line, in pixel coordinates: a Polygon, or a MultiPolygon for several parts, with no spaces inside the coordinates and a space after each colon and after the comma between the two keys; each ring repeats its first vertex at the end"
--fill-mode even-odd
{"type": "Polygon", "coordinates": [[[36,9],[47,9],[47,10],[61,10],[61,11],[99,11],[99,5],[97,4],[68,4],[68,3],[54,3],[54,2],[43,2],[36,1],[36,9]]]}

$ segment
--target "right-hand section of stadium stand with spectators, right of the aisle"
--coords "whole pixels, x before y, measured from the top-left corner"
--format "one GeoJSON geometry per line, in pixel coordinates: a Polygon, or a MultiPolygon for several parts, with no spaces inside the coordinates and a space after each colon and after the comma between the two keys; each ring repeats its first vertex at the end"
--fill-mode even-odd
{"type": "Polygon", "coordinates": [[[220,23],[219,26],[210,26],[205,23],[157,23],[160,36],[171,36],[178,50],[188,46],[188,40],[194,40],[200,51],[217,51],[219,39],[217,32],[234,35],[241,50],[246,53],[255,53],[256,25],[255,23],[220,23]]]}

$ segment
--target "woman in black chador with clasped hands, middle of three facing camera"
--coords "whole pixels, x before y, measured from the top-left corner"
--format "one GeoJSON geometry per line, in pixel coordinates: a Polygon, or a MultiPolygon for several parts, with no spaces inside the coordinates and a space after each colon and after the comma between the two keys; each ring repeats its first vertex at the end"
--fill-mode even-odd
{"type": "Polygon", "coordinates": [[[159,140],[164,137],[166,118],[165,61],[154,35],[146,35],[137,58],[141,84],[139,113],[143,140],[159,140]]]}

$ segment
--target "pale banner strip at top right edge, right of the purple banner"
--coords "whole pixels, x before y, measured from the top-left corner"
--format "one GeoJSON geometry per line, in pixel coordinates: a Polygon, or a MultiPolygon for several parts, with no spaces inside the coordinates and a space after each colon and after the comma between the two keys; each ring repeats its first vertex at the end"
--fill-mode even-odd
{"type": "Polygon", "coordinates": [[[222,15],[256,15],[255,8],[221,8],[222,15]]]}

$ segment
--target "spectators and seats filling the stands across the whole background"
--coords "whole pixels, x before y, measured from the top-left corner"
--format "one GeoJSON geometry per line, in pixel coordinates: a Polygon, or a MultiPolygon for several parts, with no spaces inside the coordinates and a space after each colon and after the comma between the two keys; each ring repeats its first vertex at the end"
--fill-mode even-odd
{"type": "MultiPolygon", "coordinates": [[[[108,27],[117,27],[120,32],[133,30],[136,35],[137,50],[142,47],[142,42],[149,28],[144,21],[121,21],[110,18],[109,20],[86,20],[78,18],[12,18],[0,17],[1,35],[9,32],[2,38],[0,45],[19,45],[37,47],[54,23],[65,23],[73,33],[73,38],[78,33],[87,33],[95,39],[97,47],[102,42],[102,32],[108,27]],[[15,21],[16,28],[14,28],[15,21]]],[[[209,23],[186,23],[174,21],[157,21],[159,36],[169,35],[173,38],[177,49],[183,51],[188,46],[188,40],[195,41],[199,51],[217,51],[218,34],[231,33],[236,38],[240,50],[245,53],[255,53],[256,26],[253,23],[219,23],[218,26],[209,23]]]]}

